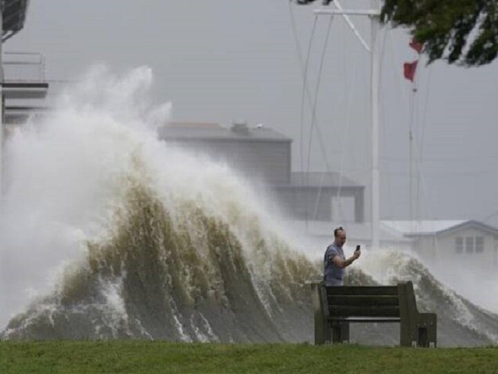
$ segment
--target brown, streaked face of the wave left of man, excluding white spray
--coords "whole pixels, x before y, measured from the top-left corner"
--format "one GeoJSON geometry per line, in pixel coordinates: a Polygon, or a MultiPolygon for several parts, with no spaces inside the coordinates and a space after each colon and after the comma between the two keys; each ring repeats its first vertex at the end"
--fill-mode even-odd
{"type": "Polygon", "coordinates": [[[4,335],[301,339],[306,331],[285,326],[309,315],[306,280],[316,268],[277,237],[264,237],[256,217],[245,220],[240,237],[234,221],[178,203],[174,213],[134,184],[111,238],[88,243],[86,260],[68,268],[53,294],[12,319],[4,335]]]}

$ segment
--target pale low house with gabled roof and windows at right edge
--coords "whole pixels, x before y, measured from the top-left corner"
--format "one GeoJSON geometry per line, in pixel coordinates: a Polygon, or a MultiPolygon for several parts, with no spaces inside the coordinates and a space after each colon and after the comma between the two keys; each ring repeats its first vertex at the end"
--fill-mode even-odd
{"type": "MultiPolygon", "coordinates": [[[[477,221],[382,221],[412,239],[412,247],[427,263],[498,269],[498,229],[477,221]]],[[[462,268],[463,269],[463,268],[462,268]]]]}

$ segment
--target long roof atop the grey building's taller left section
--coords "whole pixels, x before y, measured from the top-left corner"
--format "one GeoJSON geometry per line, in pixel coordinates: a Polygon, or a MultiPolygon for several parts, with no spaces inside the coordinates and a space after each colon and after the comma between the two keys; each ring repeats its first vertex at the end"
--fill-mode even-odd
{"type": "Polygon", "coordinates": [[[246,124],[234,124],[232,127],[222,127],[216,123],[173,122],[158,129],[160,140],[241,140],[291,142],[282,133],[261,125],[249,127],[246,124]]]}

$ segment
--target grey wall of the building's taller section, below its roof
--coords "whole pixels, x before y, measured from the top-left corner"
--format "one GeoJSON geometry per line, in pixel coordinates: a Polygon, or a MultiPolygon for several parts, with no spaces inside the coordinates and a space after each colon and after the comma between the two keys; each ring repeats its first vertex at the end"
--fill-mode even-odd
{"type": "Polygon", "coordinates": [[[244,176],[271,184],[289,183],[291,141],[261,140],[169,140],[196,154],[205,153],[227,162],[244,176]]]}

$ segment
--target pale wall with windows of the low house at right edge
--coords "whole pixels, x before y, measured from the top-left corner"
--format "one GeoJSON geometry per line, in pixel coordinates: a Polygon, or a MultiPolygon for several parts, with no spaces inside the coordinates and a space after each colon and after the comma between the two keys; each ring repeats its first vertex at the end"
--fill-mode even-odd
{"type": "Polygon", "coordinates": [[[498,269],[498,237],[478,228],[423,236],[416,241],[415,250],[434,265],[498,269]],[[477,245],[479,241],[482,245],[477,245]]]}

